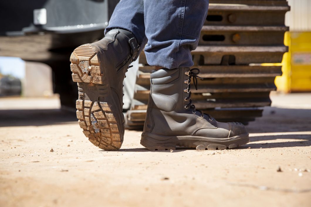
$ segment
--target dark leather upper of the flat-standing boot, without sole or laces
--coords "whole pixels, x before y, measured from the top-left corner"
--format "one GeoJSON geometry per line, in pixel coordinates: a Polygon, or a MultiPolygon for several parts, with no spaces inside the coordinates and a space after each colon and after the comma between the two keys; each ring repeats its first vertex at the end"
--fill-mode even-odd
{"type": "Polygon", "coordinates": [[[185,83],[190,68],[160,69],[151,73],[151,89],[144,132],[163,136],[204,136],[227,138],[246,133],[238,122],[217,122],[208,115],[201,117],[199,111],[185,108],[189,93],[185,83]],[[234,124],[232,124],[234,123],[234,124]]]}

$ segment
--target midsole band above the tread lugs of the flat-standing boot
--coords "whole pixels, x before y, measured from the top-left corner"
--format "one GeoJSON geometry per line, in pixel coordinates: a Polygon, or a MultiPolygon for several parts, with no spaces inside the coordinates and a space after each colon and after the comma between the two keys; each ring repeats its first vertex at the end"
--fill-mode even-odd
{"type": "Polygon", "coordinates": [[[207,142],[228,142],[237,139],[246,139],[248,138],[248,133],[240,134],[237,136],[229,137],[229,138],[210,138],[210,137],[202,137],[202,136],[161,136],[153,133],[142,133],[142,139],[147,139],[150,142],[157,144],[165,144],[170,142],[175,142],[178,140],[197,140],[197,141],[207,141],[207,142]]]}

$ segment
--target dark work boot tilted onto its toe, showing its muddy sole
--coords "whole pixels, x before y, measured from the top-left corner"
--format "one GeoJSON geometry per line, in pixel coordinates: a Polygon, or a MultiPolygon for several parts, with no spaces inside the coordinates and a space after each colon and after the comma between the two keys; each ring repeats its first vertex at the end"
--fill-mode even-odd
{"type": "Polygon", "coordinates": [[[123,142],[123,80],[138,55],[127,30],[110,30],[98,42],[76,48],[70,56],[72,80],[78,82],[77,118],[83,133],[100,149],[118,150],[123,142]]]}

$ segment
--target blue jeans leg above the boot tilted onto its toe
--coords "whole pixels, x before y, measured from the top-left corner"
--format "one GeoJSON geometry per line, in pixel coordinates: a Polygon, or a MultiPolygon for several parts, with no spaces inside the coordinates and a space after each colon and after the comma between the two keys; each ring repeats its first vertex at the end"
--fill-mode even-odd
{"type": "Polygon", "coordinates": [[[143,48],[146,44],[143,0],[121,0],[114,9],[105,34],[115,28],[132,32],[143,48]]]}

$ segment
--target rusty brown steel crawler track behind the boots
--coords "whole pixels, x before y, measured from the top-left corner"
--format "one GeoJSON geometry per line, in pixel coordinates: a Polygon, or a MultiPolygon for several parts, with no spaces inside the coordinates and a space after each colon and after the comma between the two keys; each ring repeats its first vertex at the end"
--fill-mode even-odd
{"type": "MultiPolygon", "coordinates": [[[[276,90],[274,79],[281,75],[280,63],[287,52],[284,33],[286,0],[210,0],[199,45],[192,52],[194,66],[204,80],[198,90],[191,87],[193,104],[221,122],[247,124],[269,106],[269,93],[276,90]],[[267,65],[267,64],[265,64],[267,65]]],[[[139,59],[134,99],[127,112],[127,128],[144,124],[154,69],[139,59]]]]}

